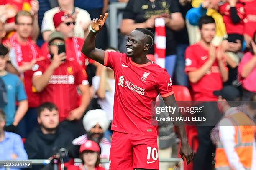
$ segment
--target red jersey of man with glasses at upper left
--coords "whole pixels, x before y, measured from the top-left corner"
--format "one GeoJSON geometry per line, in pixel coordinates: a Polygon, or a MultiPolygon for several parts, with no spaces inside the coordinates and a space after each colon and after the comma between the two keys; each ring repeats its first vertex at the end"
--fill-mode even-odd
{"type": "MultiPolygon", "coordinates": [[[[32,40],[28,40],[31,44],[20,44],[20,48],[16,48],[15,45],[10,40],[5,40],[5,42],[8,42],[13,47],[13,50],[15,50],[15,60],[12,60],[14,65],[16,66],[22,66],[26,62],[31,62],[33,59],[37,59],[41,57],[41,50],[40,48],[33,42],[32,40]],[[33,47],[31,47],[33,45],[33,47]]],[[[33,69],[35,67],[32,67],[32,70],[28,70],[24,73],[21,73],[20,77],[23,80],[26,94],[28,96],[28,106],[29,107],[38,107],[40,102],[39,98],[40,95],[36,92],[36,89],[32,86],[32,76],[33,76],[33,69]]]]}

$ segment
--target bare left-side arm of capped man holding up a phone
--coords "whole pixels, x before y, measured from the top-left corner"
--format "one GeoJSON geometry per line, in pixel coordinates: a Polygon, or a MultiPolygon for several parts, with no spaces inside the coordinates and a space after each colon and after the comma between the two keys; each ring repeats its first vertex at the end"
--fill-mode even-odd
{"type": "Polygon", "coordinates": [[[41,92],[44,90],[46,85],[48,84],[51,75],[54,73],[54,70],[61,65],[63,62],[62,60],[66,59],[66,54],[55,54],[53,57],[53,60],[51,61],[51,64],[49,67],[45,70],[45,72],[42,75],[34,75],[32,78],[33,86],[36,88],[38,92],[41,92]]]}

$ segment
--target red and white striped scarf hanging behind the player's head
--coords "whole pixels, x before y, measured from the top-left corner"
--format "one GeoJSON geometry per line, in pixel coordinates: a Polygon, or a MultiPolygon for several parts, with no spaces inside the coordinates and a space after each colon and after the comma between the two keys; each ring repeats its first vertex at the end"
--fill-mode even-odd
{"type": "Polygon", "coordinates": [[[155,60],[156,64],[165,68],[166,32],[164,18],[155,19],[155,60]]]}

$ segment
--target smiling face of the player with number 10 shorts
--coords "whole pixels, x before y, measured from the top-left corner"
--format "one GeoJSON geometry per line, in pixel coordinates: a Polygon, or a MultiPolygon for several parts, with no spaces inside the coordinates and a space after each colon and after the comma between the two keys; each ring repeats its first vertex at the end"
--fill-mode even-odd
{"type": "Polygon", "coordinates": [[[128,57],[138,57],[145,52],[145,40],[143,32],[134,30],[127,38],[126,52],[128,57]]]}

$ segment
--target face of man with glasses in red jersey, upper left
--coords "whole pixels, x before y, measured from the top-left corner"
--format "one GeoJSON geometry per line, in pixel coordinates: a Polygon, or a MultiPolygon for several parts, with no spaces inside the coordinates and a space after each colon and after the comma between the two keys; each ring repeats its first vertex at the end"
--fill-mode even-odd
{"type": "Polygon", "coordinates": [[[29,16],[19,16],[18,23],[15,24],[15,30],[22,38],[28,38],[33,29],[33,20],[29,16]]]}

